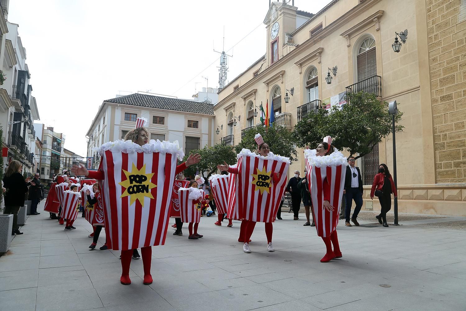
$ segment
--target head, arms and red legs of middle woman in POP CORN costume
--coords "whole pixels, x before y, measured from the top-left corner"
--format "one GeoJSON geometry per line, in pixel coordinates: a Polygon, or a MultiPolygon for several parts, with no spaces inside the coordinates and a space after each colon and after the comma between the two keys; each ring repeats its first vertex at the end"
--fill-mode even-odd
{"type": "MultiPolygon", "coordinates": [[[[255,141],[258,145],[256,153],[259,153],[259,156],[264,157],[267,159],[267,156],[273,155],[272,152],[270,152],[270,147],[268,146],[267,143],[265,143],[262,139],[262,136],[260,134],[257,134],[255,136],[255,141]]],[[[244,149],[243,149],[244,150],[244,149]]],[[[255,154],[257,156],[257,154],[255,154]]],[[[241,169],[239,168],[239,165],[236,167],[230,167],[226,162],[224,162],[223,165],[218,165],[217,168],[221,171],[227,171],[228,173],[233,173],[233,174],[241,174],[241,169]]],[[[254,167],[254,169],[259,169],[258,167],[254,167]]],[[[272,185],[278,183],[280,180],[280,173],[273,172],[271,173],[271,177],[273,180],[272,185]]],[[[283,190],[284,191],[284,190],[283,190]]],[[[281,196],[280,196],[281,197],[281,196]]],[[[270,204],[271,205],[271,204],[270,204]]],[[[246,208],[246,207],[245,207],[246,208]]],[[[250,207],[251,209],[254,209],[254,206],[250,207]]],[[[276,212],[275,212],[276,214],[276,212]]],[[[275,215],[271,218],[270,221],[265,221],[265,234],[267,236],[267,251],[273,252],[275,249],[272,245],[272,235],[273,235],[273,230],[274,227],[272,225],[272,221],[275,220],[275,215]]],[[[243,242],[241,239],[241,233],[244,233],[244,244],[243,244],[243,251],[245,253],[251,253],[251,249],[249,248],[249,242],[251,242],[251,235],[253,234],[254,227],[256,225],[256,221],[250,221],[250,220],[242,220],[241,221],[241,227],[240,227],[240,239],[238,241],[243,242]]]]}

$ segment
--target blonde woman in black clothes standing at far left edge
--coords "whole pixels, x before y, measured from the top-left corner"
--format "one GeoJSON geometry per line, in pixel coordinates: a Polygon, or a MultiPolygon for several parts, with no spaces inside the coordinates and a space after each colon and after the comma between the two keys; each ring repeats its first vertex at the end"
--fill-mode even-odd
{"type": "Polygon", "coordinates": [[[21,206],[24,206],[28,186],[31,184],[28,177],[24,180],[21,174],[23,165],[20,161],[12,160],[8,165],[7,172],[3,177],[3,187],[6,192],[3,194],[5,200],[4,214],[13,214],[13,232],[11,235],[22,235],[18,226],[18,212],[21,206]]]}

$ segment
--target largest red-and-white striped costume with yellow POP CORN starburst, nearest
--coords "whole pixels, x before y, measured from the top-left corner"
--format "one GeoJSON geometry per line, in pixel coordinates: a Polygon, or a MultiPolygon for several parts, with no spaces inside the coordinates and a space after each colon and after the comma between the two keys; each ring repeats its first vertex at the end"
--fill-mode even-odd
{"type": "Polygon", "coordinates": [[[176,161],[184,156],[178,143],[151,140],[139,146],[119,140],[103,144],[98,152],[101,166],[89,177],[98,179],[102,189],[108,247],[163,245],[176,161]]]}

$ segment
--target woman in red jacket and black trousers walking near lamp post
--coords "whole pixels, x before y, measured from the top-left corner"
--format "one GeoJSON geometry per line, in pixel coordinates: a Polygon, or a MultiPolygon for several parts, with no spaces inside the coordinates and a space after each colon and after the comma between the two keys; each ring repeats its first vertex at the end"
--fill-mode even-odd
{"type": "Polygon", "coordinates": [[[397,188],[388,167],[383,163],[379,165],[379,173],[374,176],[372,189],[370,189],[370,200],[374,200],[374,194],[379,198],[381,206],[380,214],[376,218],[382,226],[388,227],[387,212],[391,209],[391,194],[396,198],[397,188]]]}

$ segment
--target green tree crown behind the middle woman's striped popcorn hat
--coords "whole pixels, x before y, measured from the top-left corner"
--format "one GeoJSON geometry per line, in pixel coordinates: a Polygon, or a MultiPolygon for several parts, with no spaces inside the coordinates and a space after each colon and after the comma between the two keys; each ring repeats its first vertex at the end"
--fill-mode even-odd
{"type": "Polygon", "coordinates": [[[285,127],[274,124],[267,128],[259,124],[255,127],[246,130],[243,133],[244,135],[241,138],[241,142],[235,146],[236,153],[239,153],[243,148],[249,149],[251,151],[256,150],[257,144],[254,140],[254,136],[257,133],[260,133],[260,135],[262,135],[262,139],[264,139],[264,142],[266,142],[269,145],[270,151],[274,154],[279,154],[283,157],[288,157],[290,158],[291,162],[296,161],[298,159],[293,134],[290,131],[288,131],[285,127]]]}

